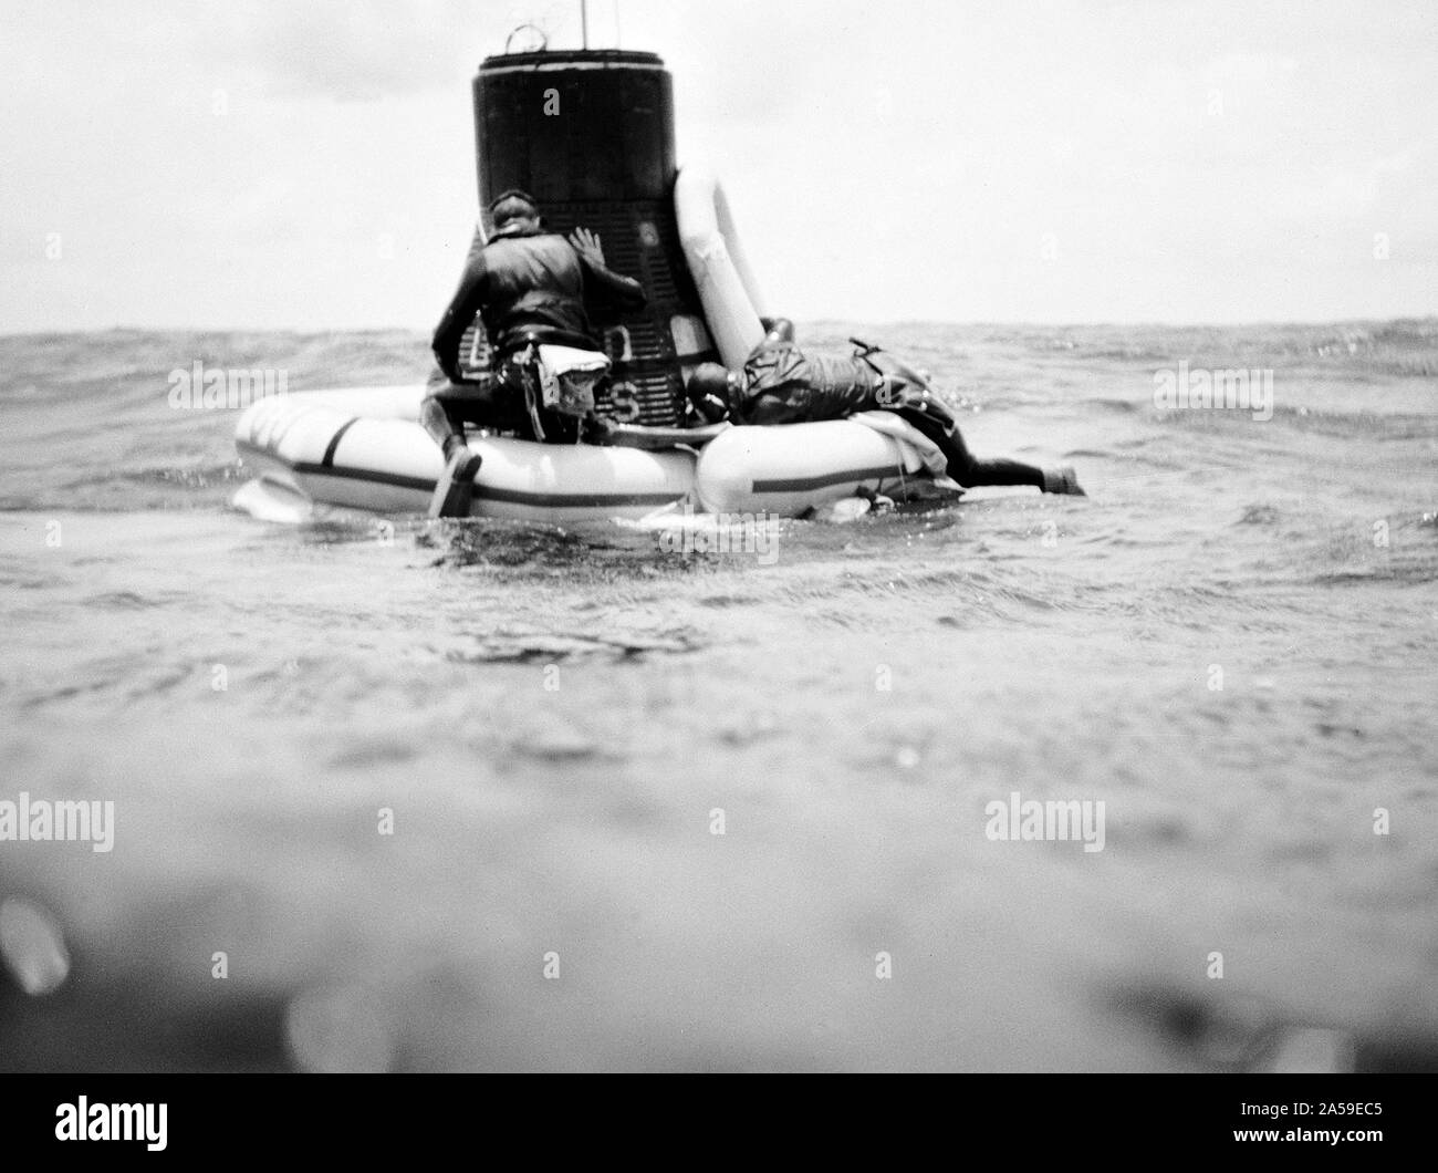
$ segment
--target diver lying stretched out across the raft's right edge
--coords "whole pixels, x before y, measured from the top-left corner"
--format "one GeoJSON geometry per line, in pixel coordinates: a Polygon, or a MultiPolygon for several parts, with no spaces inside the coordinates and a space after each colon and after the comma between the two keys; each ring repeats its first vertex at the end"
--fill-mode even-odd
{"type": "Polygon", "coordinates": [[[764,321],[768,334],[749,354],[742,374],[705,363],[689,377],[689,399],[710,423],[811,423],[856,412],[892,410],[933,440],[959,485],[1034,485],[1044,492],[1086,497],[1071,468],[1041,469],[1020,461],[981,461],[963,442],[953,413],[926,380],[893,355],[856,341],[851,358],[807,355],[794,341],[794,324],[764,321]]]}

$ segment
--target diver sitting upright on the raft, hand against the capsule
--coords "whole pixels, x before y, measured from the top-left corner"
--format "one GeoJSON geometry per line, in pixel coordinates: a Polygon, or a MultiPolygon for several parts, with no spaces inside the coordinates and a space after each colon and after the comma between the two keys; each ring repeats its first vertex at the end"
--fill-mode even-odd
{"type": "Polygon", "coordinates": [[[598,351],[590,309],[644,307],[644,288],[604,266],[597,236],[578,229],[564,239],[546,232],[539,207],[523,191],[506,191],[490,206],[493,236],[476,235],[464,276],[434,331],[434,357],[447,384],[431,387],[420,422],[444,452],[444,475],[431,517],[469,514],[479,453],[464,443],[476,423],[523,439],[575,443],[597,422],[548,410],[536,402],[533,348],[598,351]],[[489,337],[490,371],[476,383],[460,373],[459,350],[479,314],[489,337]]]}

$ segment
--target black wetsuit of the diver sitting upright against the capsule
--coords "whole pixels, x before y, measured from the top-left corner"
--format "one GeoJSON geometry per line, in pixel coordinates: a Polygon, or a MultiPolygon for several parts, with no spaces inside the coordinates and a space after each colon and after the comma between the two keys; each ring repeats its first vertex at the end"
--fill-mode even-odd
{"type": "Polygon", "coordinates": [[[434,331],[434,358],[449,383],[431,386],[421,422],[446,446],[453,436],[463,436],[466,423],[574,443],[580,432],[574,416],[541,410],[544,435],[535,435],[525,403],[531,374],[516,355],[531,344],[597,350],[588,308],[638,309],[644,301],[637,281],[594,263],[562,236],[539,229],[500,230],[485,243],[476,233],[464,276],[434,331]],[[476,314],[489,337],[490,373],[466,383],[459,348],[476,314]]]}

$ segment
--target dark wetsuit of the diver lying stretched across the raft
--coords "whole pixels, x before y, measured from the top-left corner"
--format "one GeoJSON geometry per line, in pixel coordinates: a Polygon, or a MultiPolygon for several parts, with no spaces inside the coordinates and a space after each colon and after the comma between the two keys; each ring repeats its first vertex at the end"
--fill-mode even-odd
{"type": "MultiPolygon", "coordinates": [[[[935,415],[883,403],[884,370],[880,353],[851,358],[810,357],[794,341],[794,324],[765,321],[769,332],[743,364],[743,390],[731,403],[739,423],[811,423],[844,419],[856,412],[892,410],[938,445],[948,458],[951,478],[965,488],[1034,485],[1044,488],[1044,471],[1020,461],[981,461],[942,404],[935,415]]],[[[896,371],[889,371],[894,374],[896,371]]],[[[900,373],[903,377],[903,373],[900,373]]],[[[915,381],[909,377],[909,381],[915,381]]]]}

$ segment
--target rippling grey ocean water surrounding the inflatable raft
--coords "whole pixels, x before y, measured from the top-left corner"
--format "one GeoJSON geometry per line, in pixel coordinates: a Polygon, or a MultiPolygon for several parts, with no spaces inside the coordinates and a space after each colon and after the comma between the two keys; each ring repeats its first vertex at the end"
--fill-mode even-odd
{"type": "Polygon", "coordinates": [[[265,524],[168,373],[420,337],[0,338],[0,802],[114,803],[0,842],[0,1068],[1438,1065],[1438,321],[856,331],[1090,497],[265,524]]]}

